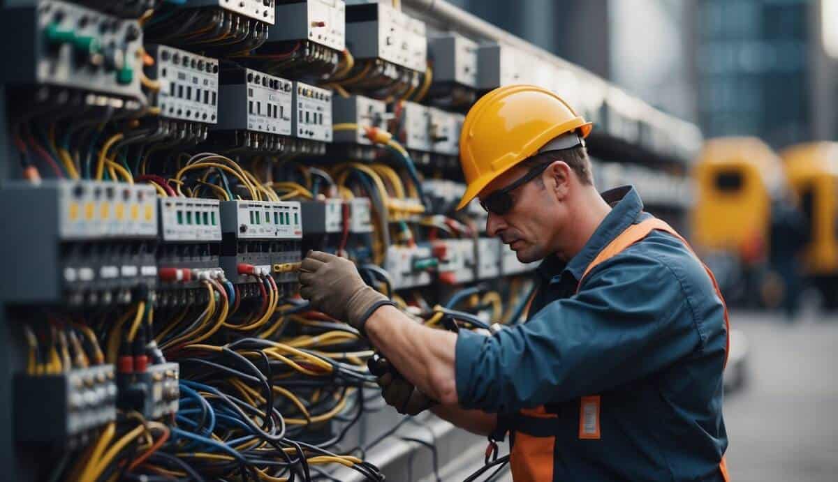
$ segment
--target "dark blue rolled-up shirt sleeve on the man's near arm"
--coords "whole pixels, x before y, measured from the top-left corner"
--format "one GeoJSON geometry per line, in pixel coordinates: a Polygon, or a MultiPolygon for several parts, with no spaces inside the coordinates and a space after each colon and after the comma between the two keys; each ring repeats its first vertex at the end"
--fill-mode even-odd
{"type": "Polygon", "coordinates": [[[463,408],[494,413],[561,403],[658,372],[700,345],[672,270],[626,251],[523,325],[493,336],[461,331],[458,397],[463,408]]]}

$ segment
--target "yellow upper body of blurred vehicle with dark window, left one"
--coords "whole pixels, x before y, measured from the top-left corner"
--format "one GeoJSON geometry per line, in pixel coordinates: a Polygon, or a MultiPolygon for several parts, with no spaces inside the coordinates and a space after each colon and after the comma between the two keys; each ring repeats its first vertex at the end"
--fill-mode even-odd
{"type": "Polygon", "coordinates": [[[779,157],[755,137],[707,141],[695,167],[692,238],[753,264],[768,249],[771,203],[784,183],[779,157]]]}

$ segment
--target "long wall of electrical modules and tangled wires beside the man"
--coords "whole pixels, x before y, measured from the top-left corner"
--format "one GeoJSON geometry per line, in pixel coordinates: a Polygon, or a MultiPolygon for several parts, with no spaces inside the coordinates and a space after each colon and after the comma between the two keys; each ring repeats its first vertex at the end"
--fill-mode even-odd
{"type": "MultiPolygon", "coordinates": [[[[695,126],[437,8],[0,3],[8,479],[284,479],[313,464],[316,450],[260,457],[256,428],[344,454],[334,420],[369,416],[347,387],[369,378],[370,346],[303,299],[303,256],[349,259],[440,328],[514,311],[535,264],[489,237],[478,199],[457,209],[464,115],[495,87],[541,85],[594,115],[592,150],[638,163],[601,162],[599,183],[632,177],[685,208],[670,157],[701,141],[695,126]]],[[[321,459],[350,478],[333,470],[346,456],[321,459]]]]}

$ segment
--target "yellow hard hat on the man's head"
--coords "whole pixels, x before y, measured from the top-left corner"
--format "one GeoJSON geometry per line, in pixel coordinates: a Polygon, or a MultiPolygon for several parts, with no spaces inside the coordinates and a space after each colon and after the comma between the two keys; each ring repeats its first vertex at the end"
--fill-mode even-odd
{"type": "Polygon", "coordinates": [[[547,142],[574,131],[585,138],[592,126],[550,90],[535,85],[492,90],[468,110],[463,122],[460,163],[468,186],[457,208],[547,142]]]}

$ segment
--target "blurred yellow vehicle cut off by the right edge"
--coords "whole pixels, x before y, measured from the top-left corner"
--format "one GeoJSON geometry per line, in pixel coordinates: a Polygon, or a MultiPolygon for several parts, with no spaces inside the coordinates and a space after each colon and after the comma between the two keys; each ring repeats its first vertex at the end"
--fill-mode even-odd
{"type": "Polygon", "coordinates": [[[781,156],[808,222],[805,270],[825,307],[838,308],[838,142],[799,144],[781,156]]]}

